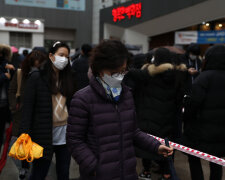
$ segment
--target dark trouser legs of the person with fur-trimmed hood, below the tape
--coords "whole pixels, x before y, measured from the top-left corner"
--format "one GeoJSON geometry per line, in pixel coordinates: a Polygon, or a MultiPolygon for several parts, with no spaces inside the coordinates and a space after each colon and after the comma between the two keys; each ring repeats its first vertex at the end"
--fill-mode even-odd
{"type": "MultiPolygon", "coordinates": [[[[162,169],[162,174],[170,174],[169,163],[167,159],[163,159],[161,161],[157,161],[160,168],[162,169]]],[[[152,160],[142,159],[142,164],[144,167],[144,171],[150,171],[152,160]]]]}

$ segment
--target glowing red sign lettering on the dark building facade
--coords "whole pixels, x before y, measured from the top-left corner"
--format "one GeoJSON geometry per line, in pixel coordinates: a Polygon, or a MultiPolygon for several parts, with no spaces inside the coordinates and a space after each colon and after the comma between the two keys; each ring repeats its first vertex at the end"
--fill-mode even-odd
{"type": "Polygon", "coordinates": [[[113,21],[121,21],[125,19],[125,15],[127,15],[128,19],[131,19],[132,16],[136,18],[141,18],[141,11],[142,11],[142,3],[131,4],[128,7],[118,7],[112,10],[113,21]]]}

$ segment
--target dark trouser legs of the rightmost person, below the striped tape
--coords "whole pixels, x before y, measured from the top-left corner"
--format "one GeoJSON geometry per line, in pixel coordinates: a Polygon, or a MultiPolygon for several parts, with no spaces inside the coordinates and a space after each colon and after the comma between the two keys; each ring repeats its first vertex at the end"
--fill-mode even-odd
{"type": "MultiPolygon", "coordinates": [[[[188,156],[189,167],[191,171],[192,180],[204,180],[201,160],[194,156],[188,156]]],[[[210,166],[210,180],[222,179],[222,166],[215,163],[209,163],[210,166]]]]}

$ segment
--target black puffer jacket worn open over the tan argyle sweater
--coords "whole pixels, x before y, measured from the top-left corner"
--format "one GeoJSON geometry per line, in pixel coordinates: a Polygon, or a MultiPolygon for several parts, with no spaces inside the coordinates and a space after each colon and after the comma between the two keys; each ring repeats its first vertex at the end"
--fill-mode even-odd
{"type": "MultiPolygon", "coordinates": [[[[32,141],[44,148],[43,158],[51,159],[53,153],[52,93],[47,73],[44,65],[44,68],[32,71],[26,81],[19,135],[29,134],[32,141]]],[[[71,98],[66,97],[66,99],[69,109],[71,98]]]]}

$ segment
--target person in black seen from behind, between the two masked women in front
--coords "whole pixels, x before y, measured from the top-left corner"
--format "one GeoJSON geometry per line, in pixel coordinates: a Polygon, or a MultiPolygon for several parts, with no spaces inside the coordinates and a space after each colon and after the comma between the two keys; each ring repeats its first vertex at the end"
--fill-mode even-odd
{"type": "Polygon", "coordinates": [[[88,59],[92,47],[89,44],[84,44],[81,47],[81,56],[73,62],[72,68],[76,73],[77,89],[82,89],[89,85],[88,79],[88,59]]]}

